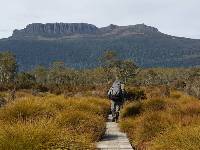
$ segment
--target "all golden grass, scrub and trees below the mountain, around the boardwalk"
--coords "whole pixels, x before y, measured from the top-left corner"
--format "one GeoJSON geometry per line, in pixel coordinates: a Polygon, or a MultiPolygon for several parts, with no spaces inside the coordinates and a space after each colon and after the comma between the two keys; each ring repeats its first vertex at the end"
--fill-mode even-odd
{"type": "Polygon", "coordinates": [[[22,72],[12,53],[0,53],[0,149],[95,149],[116,76],[128,100],[120,127],[136,149],[199,149],[199,68],[141,69],[113,51],[100,61],[91,69],[56,61],[22,72]]]}

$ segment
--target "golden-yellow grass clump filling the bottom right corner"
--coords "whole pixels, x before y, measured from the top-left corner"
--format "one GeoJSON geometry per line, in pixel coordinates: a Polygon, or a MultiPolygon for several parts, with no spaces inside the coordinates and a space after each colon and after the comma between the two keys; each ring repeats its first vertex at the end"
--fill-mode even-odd
{"type": "Polygon", "coordinates": [[[200,149],[200,127],[179,127],[174,130],[170,130],[165,134],[156,138],[152,142],[149,149],[151,150],[169,150],[169,149],[181,149],[181,150],[197,150],[200,149]]]}

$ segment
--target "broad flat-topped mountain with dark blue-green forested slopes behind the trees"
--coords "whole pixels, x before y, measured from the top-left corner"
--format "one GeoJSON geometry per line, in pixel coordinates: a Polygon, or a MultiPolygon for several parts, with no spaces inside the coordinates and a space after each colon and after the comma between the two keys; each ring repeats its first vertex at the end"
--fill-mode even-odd
{"type": "Polygon", "coordinates": [[[64,61],[69,67],[91,68],[106,50],[141,67],[200,65],[200,40],[161,33],[145,24],[98,28],[87,23],[33,23],[0,40],[0,51],[12,51],[21,70],[64,61]]]}

